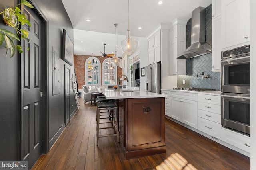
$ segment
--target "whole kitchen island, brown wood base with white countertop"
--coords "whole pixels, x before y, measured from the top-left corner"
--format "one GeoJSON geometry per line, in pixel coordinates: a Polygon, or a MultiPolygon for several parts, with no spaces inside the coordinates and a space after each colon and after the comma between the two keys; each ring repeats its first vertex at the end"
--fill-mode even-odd
{"type": "Polygon", "coordinates": [[[118,106],[118,130],[126,159],[166,152],[165,94],[102,89],[118,106]]]}

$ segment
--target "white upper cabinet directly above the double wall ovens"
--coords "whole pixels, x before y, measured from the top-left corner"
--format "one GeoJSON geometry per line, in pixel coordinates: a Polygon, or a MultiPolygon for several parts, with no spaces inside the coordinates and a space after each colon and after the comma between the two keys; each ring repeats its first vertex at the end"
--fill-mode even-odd
{"type": "Polygon", "coordinates": [[[221,1],[222,51],[250,43],[250,0],[221,1]]]}

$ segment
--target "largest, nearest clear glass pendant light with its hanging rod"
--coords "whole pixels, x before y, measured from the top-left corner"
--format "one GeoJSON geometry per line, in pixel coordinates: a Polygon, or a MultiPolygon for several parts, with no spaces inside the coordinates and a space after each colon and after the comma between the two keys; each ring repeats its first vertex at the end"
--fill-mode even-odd
{"type": "Polygon", "coordinates": [[[128,0],[128,29],[126,32],[126,39],[121,41],[121,48],[126,55],[131,55],[136,51],[137,47],[138,47],[138,42],[135,39],[132,39],[131,31],[129,29],[129,0],[128,0]]]}

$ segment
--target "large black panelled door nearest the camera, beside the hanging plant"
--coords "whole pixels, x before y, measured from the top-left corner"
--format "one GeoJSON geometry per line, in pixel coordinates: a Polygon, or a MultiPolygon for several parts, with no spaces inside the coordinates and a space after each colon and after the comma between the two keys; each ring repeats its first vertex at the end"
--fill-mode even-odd
{"type": "Polygon", "coordinates": [[[28,168],[42,154],[42,20],[30,8],[24,6],[24,14],[31,27],[24,25],[29,32],[28,39],[22,39],[22,160],[28,161],[28,168]],[[28,43],[30,41],[30,43],[28,43]],[[30,50],[27,51],[26,47],[30,50]]]}

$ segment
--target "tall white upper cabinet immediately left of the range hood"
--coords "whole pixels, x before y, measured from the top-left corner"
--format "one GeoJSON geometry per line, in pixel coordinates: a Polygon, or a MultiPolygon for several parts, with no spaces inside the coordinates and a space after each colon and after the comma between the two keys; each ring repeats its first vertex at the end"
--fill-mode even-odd
{"type": "Polygon", "coordinates": [[[169,30],[169,75],[186,75],[186,59],[176,59],[186,50],[186,24],[176,19],[169,30]]]}

